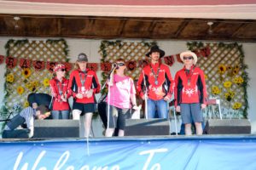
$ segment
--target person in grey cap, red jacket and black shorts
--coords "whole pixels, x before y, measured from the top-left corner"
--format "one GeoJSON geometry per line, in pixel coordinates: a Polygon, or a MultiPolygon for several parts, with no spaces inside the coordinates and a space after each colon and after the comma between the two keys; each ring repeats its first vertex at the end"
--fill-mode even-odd
{"type": "Polygon", "coordinates": [[[81,129],[84,129],[84,134],[80,133],[81,137],[89,137],[90,125],[93,112],[96,111],[95,94],[100,92],[100,83],[95,71],[86,68],[88,57],[86,54],[79,54],[76,62],[76,70],[70,74],[68,82],[68,94],[73,96],[73,119],[79,120],[80,116],[84,116],[84,124],[81,124],[81,129]]]}

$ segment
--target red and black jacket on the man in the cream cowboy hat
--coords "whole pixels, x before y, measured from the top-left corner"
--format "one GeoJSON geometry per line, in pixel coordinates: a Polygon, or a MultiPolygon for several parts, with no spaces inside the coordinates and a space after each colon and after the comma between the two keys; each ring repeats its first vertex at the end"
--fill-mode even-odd
{"type": "Polygon", "coordinates": [[[204,72],[194,65],[186,71],[185,67],[177,71],[175,75],[176,99],[175,105],[201,103],[207,104],[207,85],[205,82],[204,72]]]}

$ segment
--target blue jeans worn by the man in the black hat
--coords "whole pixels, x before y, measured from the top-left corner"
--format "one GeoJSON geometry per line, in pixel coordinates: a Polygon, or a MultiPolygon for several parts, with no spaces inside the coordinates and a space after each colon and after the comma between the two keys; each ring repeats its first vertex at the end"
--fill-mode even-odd
{"type": "Polygon", "coordinates": [[[164,99],[148,99],[148,118],[167,118],[167,102],[164,99]],[[158,115],[157,115],[158,114],[158,115]]]}

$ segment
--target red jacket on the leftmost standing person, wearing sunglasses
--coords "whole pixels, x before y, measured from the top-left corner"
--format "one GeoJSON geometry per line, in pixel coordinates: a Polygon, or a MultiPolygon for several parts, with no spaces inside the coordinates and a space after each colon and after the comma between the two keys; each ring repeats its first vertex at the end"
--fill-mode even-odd
{"type": "Polygon", "coordinates": [[[67,99],[70,97],[70,94],[67,94],[67,84],[68,80],[66,78],[62,78],[62,81],[60,82],[57,77],[54,77],[49,81],[49,87],[51,89],[51,95],[53,96],[52,99],[52,110],[53,111],[67,111],[69,110],[69,104],[68,101],[62,101],[61,95],[66,94],[67,99]]]}

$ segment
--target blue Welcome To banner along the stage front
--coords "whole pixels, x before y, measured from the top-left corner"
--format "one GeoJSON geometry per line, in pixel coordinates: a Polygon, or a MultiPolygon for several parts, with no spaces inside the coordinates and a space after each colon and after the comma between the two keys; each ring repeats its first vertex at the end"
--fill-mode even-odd
{"type": "Polygon", "coordinates": [[[1,169],[256,169],[256,135],[2,139],[1,169]]]}

